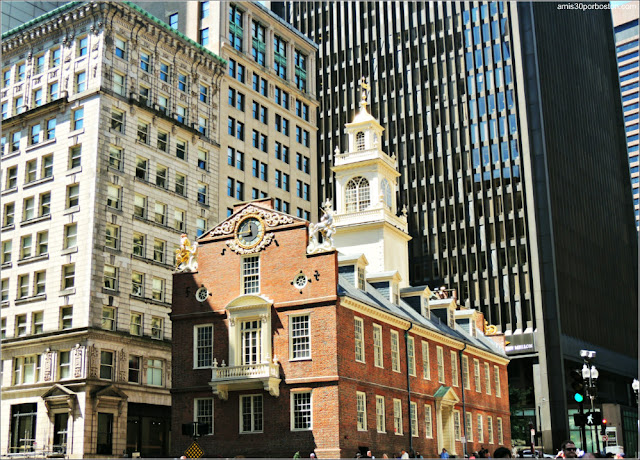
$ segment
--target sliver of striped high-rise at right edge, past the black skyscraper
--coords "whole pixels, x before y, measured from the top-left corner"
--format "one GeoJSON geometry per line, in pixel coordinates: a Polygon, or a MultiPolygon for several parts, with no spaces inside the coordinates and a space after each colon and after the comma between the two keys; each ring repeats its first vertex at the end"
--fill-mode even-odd
{"type": "Polygon", "coordinates": [[[629,170],[633,190],[636,228],[640,225],[640,175],[638,174],[638,10],[635,2],[618,5],[611,10],[616,37],[616,56],[620,72],[620,95],[627,134],[629,170]]]}

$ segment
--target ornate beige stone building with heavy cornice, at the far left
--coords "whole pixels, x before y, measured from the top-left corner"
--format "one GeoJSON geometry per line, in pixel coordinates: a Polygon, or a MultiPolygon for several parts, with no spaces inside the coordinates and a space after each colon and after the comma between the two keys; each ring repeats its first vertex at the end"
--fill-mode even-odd
{"type": "Polygon", "coordinates": [[[218,219],[225,62],[120,2],[2,51],[0,453],[162,456],[174,251],[218,219]]]}

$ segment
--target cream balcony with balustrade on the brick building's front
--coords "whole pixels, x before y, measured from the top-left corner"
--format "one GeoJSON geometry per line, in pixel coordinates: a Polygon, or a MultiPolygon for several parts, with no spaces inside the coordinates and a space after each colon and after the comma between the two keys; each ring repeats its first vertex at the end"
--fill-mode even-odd
{"type": "Polygon", "coordinates": [[[224,361],[218,367],[214,360],[209,385],[214,394],[226,401],[229,391],[239,390],[264,389],[271,396],[280,396],[280,381],[280,365],[276,358],[272,362],[229,367],[224,361]]]}

